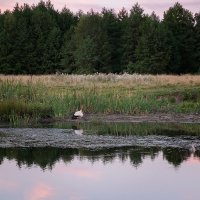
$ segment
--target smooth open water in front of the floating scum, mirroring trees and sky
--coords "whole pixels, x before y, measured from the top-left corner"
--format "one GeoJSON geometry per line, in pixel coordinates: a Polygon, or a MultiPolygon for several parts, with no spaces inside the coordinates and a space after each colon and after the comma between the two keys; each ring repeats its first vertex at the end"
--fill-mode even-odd
{"type": "Polygon", "coordinates": [[[0,149],[1,199],[199,199],[199,152],[0,149]]]}

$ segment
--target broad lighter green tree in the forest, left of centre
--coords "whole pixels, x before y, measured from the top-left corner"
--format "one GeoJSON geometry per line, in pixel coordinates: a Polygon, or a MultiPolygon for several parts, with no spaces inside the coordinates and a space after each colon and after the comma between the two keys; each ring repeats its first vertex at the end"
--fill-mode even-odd
{"type": "Polygon", "coordinates": [[[100,65],[101,20],[98,13],[82,15],[66,35],[63,49],[65,68],[71,73],[93,73],[100,65]],[[72,35],[70,37],[70,34],[72,35]]]}

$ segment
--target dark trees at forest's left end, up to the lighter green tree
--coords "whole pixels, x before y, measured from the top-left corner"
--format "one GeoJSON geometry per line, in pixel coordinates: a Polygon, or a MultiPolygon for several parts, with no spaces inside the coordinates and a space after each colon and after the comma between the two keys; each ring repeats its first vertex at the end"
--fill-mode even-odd
{"type": "Polygon", "coordinates": [[[16,4],[12,12],[1,14],[0,73],[42,74],[60,70],[62,37],[73,23],[72,13],[65,9],[59,13],[50,1],[31,7],[16,4]]]}

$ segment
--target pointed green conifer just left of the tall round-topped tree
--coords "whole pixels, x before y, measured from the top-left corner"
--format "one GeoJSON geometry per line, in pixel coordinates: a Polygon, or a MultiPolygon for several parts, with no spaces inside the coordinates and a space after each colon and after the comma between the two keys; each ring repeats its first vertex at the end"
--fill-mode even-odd
{"type": "Polygon", "coordinates": [[[170,61],[167,29],[152,13],[140,27],[141,36],[136,47],[136,62],[128,65],[128,72],[165,73],[170,61]]]}

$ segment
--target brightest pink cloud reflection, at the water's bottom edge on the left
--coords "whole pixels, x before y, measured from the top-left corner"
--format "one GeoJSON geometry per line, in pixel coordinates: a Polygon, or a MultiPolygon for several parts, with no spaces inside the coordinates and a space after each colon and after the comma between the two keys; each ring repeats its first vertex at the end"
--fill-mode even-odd
{"type": "Polygon", "coordinates": [[[28,200],[49,199],[54,195],[53,189],[44,183],[37,184],[27,195],[28,200]]]}

